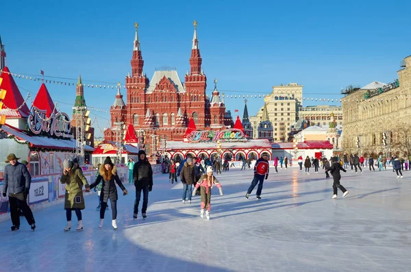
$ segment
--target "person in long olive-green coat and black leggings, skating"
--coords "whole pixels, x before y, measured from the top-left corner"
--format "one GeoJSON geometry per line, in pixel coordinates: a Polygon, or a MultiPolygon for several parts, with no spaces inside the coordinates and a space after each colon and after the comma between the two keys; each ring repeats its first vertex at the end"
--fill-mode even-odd
{"type": "Polygon", "coordinates": [[[86,191],[90,192],[90,186],[78,167],[74,168],[73,162],[64,160],[63,175],[60,179],[61,184],[66,184],[66,194],[64,195],[64,210],[66,210],[67,225],[64,232],[71,229],[71,213],[73,210],[77,216],[77,227],[75,230],[83,230],[82,210],[86,208],[83,196],[83,185],[86,191]]]}

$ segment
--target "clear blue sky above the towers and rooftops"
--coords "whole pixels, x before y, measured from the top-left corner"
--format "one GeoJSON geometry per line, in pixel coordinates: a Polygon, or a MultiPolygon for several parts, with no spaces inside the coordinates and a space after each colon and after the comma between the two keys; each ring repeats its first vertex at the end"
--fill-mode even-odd
{"type": "MultiPolygon", "coordinates": [[[[197,20],[209,95],[217,78],[226,95],[269,94],[274,85],[297,82],[304,97],[336,99],[349,84],[392,82],[399,62],[411,55],[410,1],[26,0],[2,1],[1,10],[0,35],[12,73],[82,73],[86,84],[124,83],[135,21],[145,73],[151,77],[156,67],[173,66],[184,79],[197,20]]],[[[23,96],[40,87],[29,80],[16,83],[23,96]]],[[[70,113],[75,87],[47,88],[70,113]]],[[[85,88],[88,106],[102,110],[109,110],[114,95],[115,90],[85,88]]],[[[242,100],[225,99],[227,110],[238,108],[242,116],[242,100]]],[[[248,100],[249,114],[256,114],[262,99],[248,100]]],[[[110,115],[94,114],[105,127],[110,115]]]]}

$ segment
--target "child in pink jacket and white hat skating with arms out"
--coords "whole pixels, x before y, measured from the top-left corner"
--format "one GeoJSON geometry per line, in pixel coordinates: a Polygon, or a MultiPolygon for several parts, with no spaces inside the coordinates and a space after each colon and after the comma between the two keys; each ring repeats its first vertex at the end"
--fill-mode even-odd
{"type": "MultiPolygon", "coordinates": [[[[200,188],[201,191],[201,213],[200,213],[200,217],[203,218],[204,217],[204,209],[207,207],[206,210],[206,219],[210,220],[210,209],[211,209],[211,188],[213,185],[216,185],[217,188],[219,188],[220,191],[220,195],[223,195],[223,189],[221,188],[221,184],[219,183],[219,181],[216,179],[216,177],[214,177],[214,175],[212,175],[212,167],[208,166],[207,167],[207,173],[206,175],[203,175],[199,181],[197,182],[195,188],[197,190],[197,188],[200,188]]],[[[192,196],[195,196],[195,191],[193,190],[192,192],[192,196]]]]}

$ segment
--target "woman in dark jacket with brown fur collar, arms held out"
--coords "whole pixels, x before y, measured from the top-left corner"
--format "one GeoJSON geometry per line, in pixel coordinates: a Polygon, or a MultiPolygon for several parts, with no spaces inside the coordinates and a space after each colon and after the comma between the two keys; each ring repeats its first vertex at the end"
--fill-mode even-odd
{"type": "Polygon", "coordinates": [[[110,199],[111,208],[112,208],[112,226],[114,230],[117,228],[117,199],[119,199],[119,195],[117,195],[117,187],[118,184],[123,190],[123,195],[127,195],[127,190],[121,183],[121,180],[116,172],[116,166],[112,163],[110,157],[105,158],[104,163],[100,165],[99,168],[99,175],[95,182],[90,185],[90,189],[94,188],[103,181],[103,188],[101,188],[101,208],[100,208],[100,224],[99,227],[103,227],[104,222],[104,212],[105,208],[107,207],[107,201],[110,199]]]}

